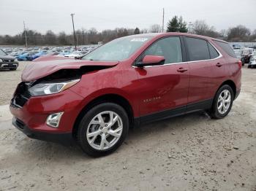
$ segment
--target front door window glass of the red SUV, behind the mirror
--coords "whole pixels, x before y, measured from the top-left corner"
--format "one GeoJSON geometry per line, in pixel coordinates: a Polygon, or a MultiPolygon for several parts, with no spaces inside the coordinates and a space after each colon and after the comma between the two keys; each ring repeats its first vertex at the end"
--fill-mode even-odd
{"type": "Polygon", "coordinates": [[[179,37],[160,39],[144,52],[143,56],[145,55],[162,55],[165,63],[182,62],[181,41],[179,37]]]}

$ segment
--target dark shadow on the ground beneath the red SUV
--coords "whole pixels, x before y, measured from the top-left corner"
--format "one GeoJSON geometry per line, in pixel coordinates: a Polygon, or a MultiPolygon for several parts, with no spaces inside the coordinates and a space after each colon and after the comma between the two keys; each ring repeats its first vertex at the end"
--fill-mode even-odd
{"type": "MultiPolygon", "coordinates": [[[[126,147],[137,147],[138,144],[136,144],[136,142],[143,142],[143,140],[148,139],[148,136],[153,135],[158,139],[161,139],[163,134],[171,134],[181,130],[181,128],[196,128],[198,123],[209,119],[210,117],[208,117],[205,112],[195,112],[178,117],[171,117],[158,122],[152,122],[148,125],[142,125],[139,128],[131,128],[124,144],[112,155],[122,155],[122,152],[126,152],[126,147]]],[[[59,162],[61,160],[85,161],[94,159],[93,157],[86,155],[82,149],[80,149],[78,144],[75,143],[67,146],[26,137],[17,145],[17,149],[24,155],[24,157],[35,157],[39,160],[47,159],[59,162]]]]}

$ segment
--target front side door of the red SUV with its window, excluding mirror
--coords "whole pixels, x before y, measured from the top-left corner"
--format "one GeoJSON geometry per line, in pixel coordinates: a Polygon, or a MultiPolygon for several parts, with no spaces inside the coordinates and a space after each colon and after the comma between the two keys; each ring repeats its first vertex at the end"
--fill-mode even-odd
{"type": "Polygon", "coordinates": [[[170,109],[178,108],[177,112],[185,112],[189,71],[187,63],[183,62],[181,40],[179,36],[159,39],[138,58],[138,61],[142,61],[145,55],[165,57],[164,65],[136,69],[140,84],[137,94],[140,100],[140,116],[162,112],[150,116],[149,120],[155,120],[154,117],[162,118],[173,114],[168,112],[170,109]]]}

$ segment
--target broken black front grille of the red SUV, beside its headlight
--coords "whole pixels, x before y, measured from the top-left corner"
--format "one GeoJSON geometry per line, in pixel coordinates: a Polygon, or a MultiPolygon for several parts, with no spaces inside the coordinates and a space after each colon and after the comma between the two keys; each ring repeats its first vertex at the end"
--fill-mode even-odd
{"type": "Polygon", "coordinates": [[[21,108],[26,104],[29,98],[31,98],[31,94],[29,93],[29,87],[31,85],[29,82],[20,82],[12,98],[11,106],[21,108]]]}

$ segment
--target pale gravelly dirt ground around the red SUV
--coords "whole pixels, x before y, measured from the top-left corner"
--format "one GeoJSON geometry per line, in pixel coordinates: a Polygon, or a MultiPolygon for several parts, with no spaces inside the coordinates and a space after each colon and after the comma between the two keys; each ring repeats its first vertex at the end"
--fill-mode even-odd
{"type": "MultiPolygon", "coordinates": [[[[8,104],[18,71],[0,73],[8,104]]],[[[107,157],[27,138],[0,106],[0,190],[256,190],[256,69],[223,120],[204,112],[130,130],[107,157]]]]}

